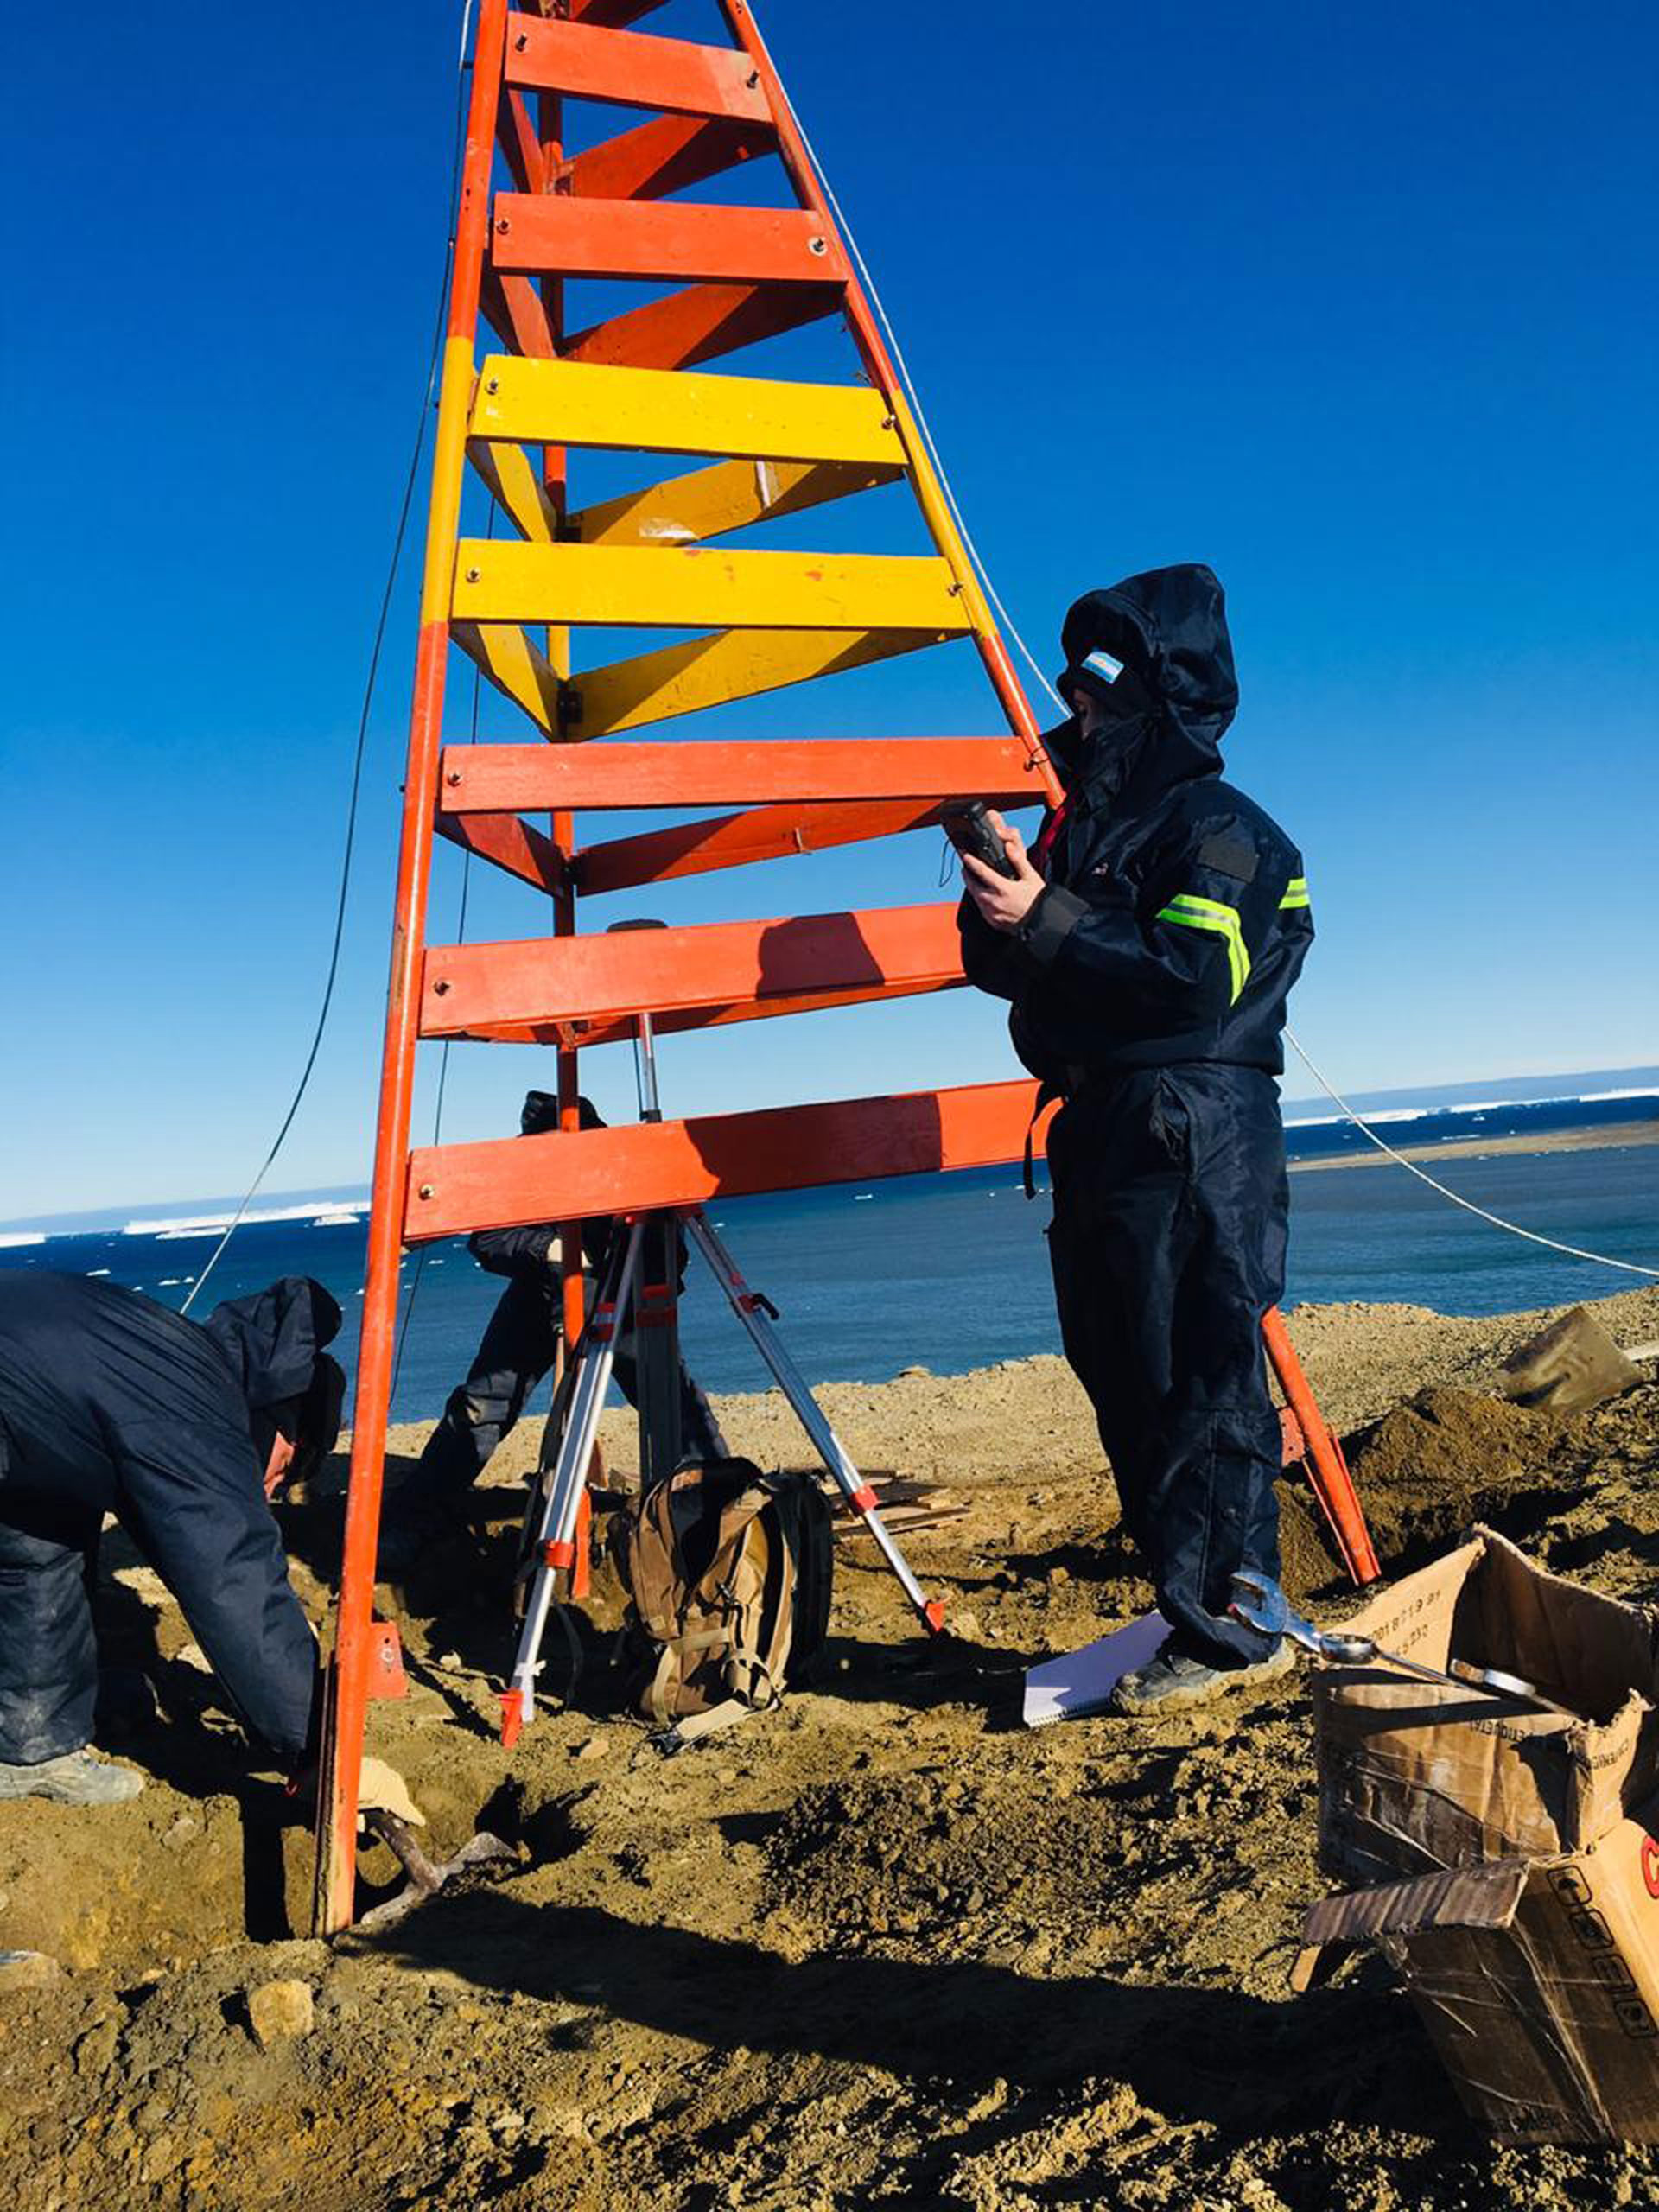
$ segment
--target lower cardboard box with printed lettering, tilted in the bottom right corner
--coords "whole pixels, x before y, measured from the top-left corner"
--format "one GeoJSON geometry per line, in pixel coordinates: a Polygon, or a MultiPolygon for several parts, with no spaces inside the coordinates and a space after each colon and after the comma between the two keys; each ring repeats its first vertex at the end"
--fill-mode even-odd
{"type": "Polygon", "coordinates": [[[1659,2141],[1659,1843],[1646,1823],[1571,1856],[1327,1898],[1305,1940],[1387,1953],[1464,2108],[1500,2141],[1659,2141]]]}

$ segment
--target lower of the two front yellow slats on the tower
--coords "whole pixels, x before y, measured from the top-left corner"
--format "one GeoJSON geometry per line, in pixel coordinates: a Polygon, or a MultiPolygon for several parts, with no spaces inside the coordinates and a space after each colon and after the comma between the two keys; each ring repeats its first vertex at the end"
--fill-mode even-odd
{"type": "Polygon", "coordinates": [[[462,538],[458,622],[688,630],[967,630],[949,562],[889,553],[728,553],[462,538]]]}

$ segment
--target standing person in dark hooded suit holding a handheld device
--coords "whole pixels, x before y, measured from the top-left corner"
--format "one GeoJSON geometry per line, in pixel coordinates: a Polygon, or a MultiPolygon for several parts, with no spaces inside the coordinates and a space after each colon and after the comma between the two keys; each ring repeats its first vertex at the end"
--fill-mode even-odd
{"type": "Polygon", "coordinates": [[[1013,876],[967,858],[962,964],[1011,1000],[1048,1128],[1060,1332],[1172,1635],[1117,1690],[1166,1712],[1283,1672],[1232,1619],[1279,1573],[1281,1433],[1261,1318],[1285,1285],[1285,998],[1314,936],[1303,860],[1221,781],[1239,686],[1221,584],[1155,568],[1077,599],[1064,801],[1013,876]]]}

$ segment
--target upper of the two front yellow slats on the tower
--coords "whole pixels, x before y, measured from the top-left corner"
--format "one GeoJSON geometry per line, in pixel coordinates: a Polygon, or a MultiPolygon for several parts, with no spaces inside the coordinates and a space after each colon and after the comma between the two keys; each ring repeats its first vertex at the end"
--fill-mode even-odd
{"type": "Polygon", "coordinates": [[[511,354],[491,354],[478,374],[471,436],[761,460],[905,462],[891,407],[867,385],[613,369],[511,354]]]}

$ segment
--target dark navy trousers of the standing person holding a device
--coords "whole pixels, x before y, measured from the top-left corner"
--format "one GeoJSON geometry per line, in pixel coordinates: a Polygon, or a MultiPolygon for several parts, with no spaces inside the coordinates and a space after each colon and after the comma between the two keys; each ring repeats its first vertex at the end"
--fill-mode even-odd
{"type": "Polygon", "coordinates": [[[1234,1573],[1279,1575],[1281,1431],[1261,1316],[1285,1290],[1285,1135],[1254,1068],[1093,1082],[1048,1133],[1048,1254],[1124,1522],[1179,1650],[1261,1655],[1234,1573]]]}

